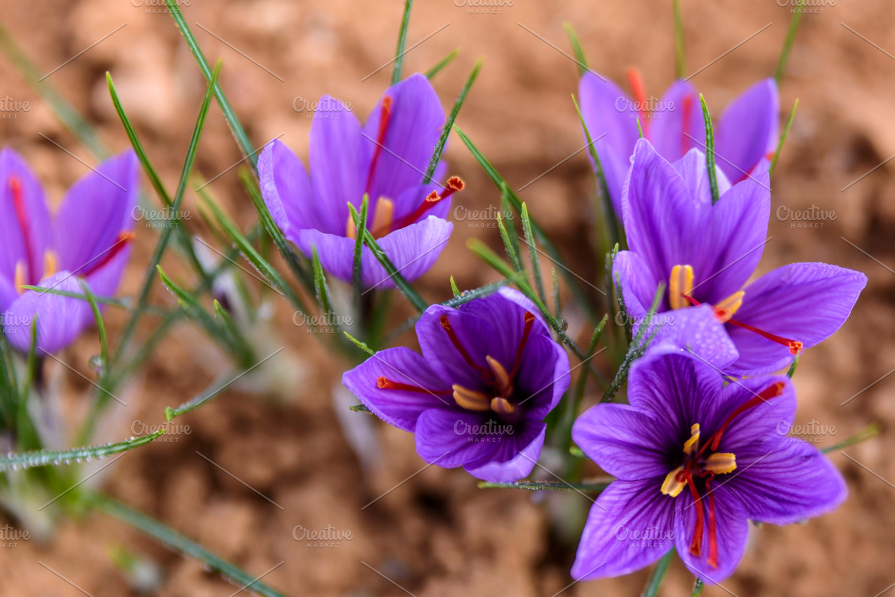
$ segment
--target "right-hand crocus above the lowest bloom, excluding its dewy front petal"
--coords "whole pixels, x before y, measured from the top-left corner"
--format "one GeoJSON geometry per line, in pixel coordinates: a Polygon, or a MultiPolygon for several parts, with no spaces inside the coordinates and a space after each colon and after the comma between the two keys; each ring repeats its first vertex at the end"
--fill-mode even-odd
{"type": "Polygon", "coordinates": [[[646,314],[660,281],[659,311],[711,304],[739,353],[726,371],[738,375],[779,370],[848,318],[867,282],[852,269],[792,263],[744,287],[768,240],[767,172],[731,186],[719,170],[712,205],[698,149],[670,164],[644,139],[631,162],[622,194],[630,250],[618,252],[612,275],[632,317],[646,314]]]}

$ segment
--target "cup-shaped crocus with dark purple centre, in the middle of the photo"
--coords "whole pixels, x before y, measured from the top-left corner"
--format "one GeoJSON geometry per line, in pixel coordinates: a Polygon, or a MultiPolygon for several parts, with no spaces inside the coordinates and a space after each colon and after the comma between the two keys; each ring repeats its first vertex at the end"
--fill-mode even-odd
{"type": "Polygon", "coordinates": [[[510,482],[541,455],[544,417],[568,388],[568,357],[516,291],[457,309],[431,305],[416,323],[422,355],[388,348],[342,383],[385,422],[416,434],[430,464],[510,482]]]}

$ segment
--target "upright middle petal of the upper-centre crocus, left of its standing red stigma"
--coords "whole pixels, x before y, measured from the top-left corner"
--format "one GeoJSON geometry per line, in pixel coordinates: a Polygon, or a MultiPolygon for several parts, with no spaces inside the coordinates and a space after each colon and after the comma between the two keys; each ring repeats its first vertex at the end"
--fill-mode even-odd
{"type": "Polygon", "coordinates": [[[361,123],[336,98],[325,95],[320,105],[334,106],[339,117],[315,118],[311,124],[308,153],[318,229],[329,235],[345,235],[348,202],[359,206],[363,198],[366,153],[361,123]]]}

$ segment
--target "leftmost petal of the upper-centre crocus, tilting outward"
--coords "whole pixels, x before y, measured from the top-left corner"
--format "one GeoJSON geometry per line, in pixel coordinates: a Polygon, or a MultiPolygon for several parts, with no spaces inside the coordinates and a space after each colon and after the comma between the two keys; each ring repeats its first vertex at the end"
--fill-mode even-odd
{"type": "Polygon", "coordinates": [[[321,226],[311,179],[302,160],[285,143],[277,139],[264,148],[258,159],[258,175],[261,196],[286,238],[297,244],[299,230],[321,226]]]}

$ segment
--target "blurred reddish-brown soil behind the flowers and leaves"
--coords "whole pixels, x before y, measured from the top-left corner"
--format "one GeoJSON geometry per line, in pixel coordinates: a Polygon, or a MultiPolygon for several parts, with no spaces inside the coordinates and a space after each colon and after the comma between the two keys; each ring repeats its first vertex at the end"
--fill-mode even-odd
{"type": "MultiPolygon", "coordinates": [[[[126,23],[48,81],[98,127],[101,138],[117,152],[129,145],[108,97],[104,73],[111,72],[149,158],[173,189],[205,81],[171,16],[154,1],[4,0],[0,21],[44,72],[126,23]]],[[[692,80],[714,114],[720,114],[731,98],[755,81],[773,75],[791,16],[791,6],[781,7],[780,2],[682,0],[687,72],[697,71],[772,23],[692,80]]],[[[516,188],[582,145],[570,98],[577,91],[578,71],[562,53],[571,54],[565,21],[577,30],[597,72],[622,84],[626,67],[636,66],[643,72],[647,94],[657,97],[673,81],[673,21],[668,1],[515,0],[491,7],[456,5],[461,3],[420,0],[414,4],[408,47],[449,24],[408,52],[405,73],[425,71],[460,48],[456,60],[432,81],[447,110],[476,58],[484,57],[457,125],[516,188]]],[[[834,427],[835,434],[803,434],[820,448],[870,422],[882,422],[883,432],[846,450],[866,468],[838,451],[831,453],[851,490],[837,512],[806,525],[765,525],[752,534],[737,574],[725,583],[729,593],[743,597],[874,597],[895,583],[891,566],[895,460],[885,456],[895,448],[888,432],[895,422],[895,376],[880,380],[895,367],[895,161],[842,190],[895,152],[891,111],[895,13],[884,0],[830,4],[804,15],[780,85],[781,128],[796,98],[799,105],[772,178],[772,241],[765,248],[759,273],[793,261],[825,261],[866,273],[869,283],[852,317],[801,360],[795,376],[797,423],[814,421],[827,430],[834,427]],[[813,205],[834,211],[836,219],[805,229],[793,228],[791,221],[777,217],[788,209],[813,205]],[[840,405],[876,380],[880,381],[840,405]]],[[[255,146],[282,134],[281,140],[306,160],[312,120],[307,110],[299,112],[294,107],[328,93],[350,101],[354,114],[365,119],[388,86],[390,67],[364,78],[393,57],[402,5],[399,0],[191,0],[184,1],[181,9],[209,62],[224,59],[220,81],[255,146]]],[[[29,103],[27,111],[3,113],[3,144],[30,161],[49,197],[57,202],[87,168],[38,133],[91,165],[94,160],[5,56],[0,56],[0,78],[0,94],[9,101],[29,103]]],[[[499,206],[499,192],[462,143],[453,136],[449,143],[445,154],[449,173],[467,183],[454,205],[466,209],[499,206]]],[[[210,179],[240,158],[213,103],[196,169],[210,179]]],[[[209,188],[243,229],[255,221],[235,168],[209,188]]],[[[144,189],[151,195],[145,179],[144,189]]],[[[567,263],[588,279],[595,271],[592,195],[592,172],[584,152],[520,193],[567,263]]],[[[184,209],[196,213],[192,192],[187,192],[184,209]]],[[[461,288],[497,279],[465,248],[466,239],[474,236],[499,249],[497,230],[467,225],[455,223],[441,258],[416,284],[430,302],[450,296],[448,276],[453,275],[461,288]]],[[[189,226],[192,232],[206,232],[198,217],[189,226]]],[[[136,232],[121,294],[136,291],[157,238],[156,231],[139,223],[136,232]]],[[[185,271],[173,254],[163,263],[175,275],[185,271]]],[[[256,290],[261,289],[259,285],[256,290]]],[[[153,301],[174,303],[159,284],[153,301]]],[[[411,314],[403,298],[396,297],[394,303],[393,326],[411,314]]],[[[283,562],[265,576],[265,582],[290,595],[401,593],[362,562],[421,596],[552,595],[571,582],[568,569],[580,529],[576,525],[590,506],[574,493],[544,496],[523,490],[479,490],[467,473],[432,466],[362,510],[422,468],[413,436],[349,411],[353,398],[345,396],[339,379],[350,363],[330,355],[322,348],[321,338],[309,334],[308,328],[295,326],[287,303],[270,304],[278,334],[271,342],[282,343],[274,348],[288,348],[277,356],[278,362],[271,361],[262,370],[270,398],[228,388],[200,410],[179,418],[177,423],[189,425],[189,432],[182,430],[166,442],[134,450],[109,469],[105,487],[112,495],[158,517],[252,575],[283,562]],[[197,451],[283,509],[210,465],[197,451]],[[337,546],[295,539],[301,539],[305,529],[322,530],[328,525],[343,533],[350,531],[351,539],[337,546]]],[[[586,335],[579,313],[570,310],[564,316],[571,332],[586,335]]],[[[123,317],[107,311],[113,341],[123,317]]],[[[150,328],[147,324],[142,333],[150,328]]],[[[397,342],[413,346],[413,334],[397,342]]],[[[95,332],[85,333],[60,356],[90,376],[89,359],[96,354],[96,346],[95,332]]],[[[109,439],[139,435],[141,424],[164,422],[164,408],[206,388],[226,371],[223,361],[216,346],[196,328],[188,324],[175,328],[129,387],[132,404],[127,412],[107,422],[109,439]]],[[[80,402],[89,396],[88,383],[60,367],[52,373],[64,388],[64,406],[75,416],[80,402]]],[[[588,388],[585,405],[599,396],[598,388],[588,388]]],[[[14,524],[13,519],[9,521],[14,524]]],[[[10,597],[81,594],[38,564],[42,562],[95,597],[132,594],[132,586],[109,555],[115,549],[112,546],[126,546],[158,565],[163,575],[160,595],[204,597],[234,590],[200,564],[95,515],[61,521],[47,541],[35,537],[15,546],[4,542],[0,593],[10,597]]],[[[635,595],[645,579],[642,571],[575,584],[563,594],[635,595]]],[[[661,594],[688,595],[692,581],[686,569],[674,562],[661,594]]],[[[703,594],[727,593],[706,587],[703,594]]]]}

